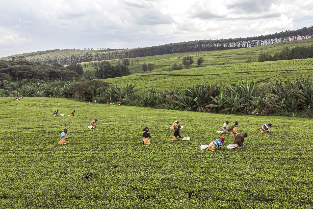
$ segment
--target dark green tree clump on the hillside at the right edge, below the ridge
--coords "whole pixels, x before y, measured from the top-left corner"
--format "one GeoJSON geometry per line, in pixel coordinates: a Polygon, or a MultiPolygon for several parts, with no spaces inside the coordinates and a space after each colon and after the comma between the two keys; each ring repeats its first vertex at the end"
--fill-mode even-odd
{"type": "Polygon", "coordinates": [[[262,52],[259,55],[259,62],[273,61],[273,60],[297,60],[313,58],[313,44],[311,46],[296,46],[289,49],[285,47],[281,52],[276,52],[274,55],[270,55],[269,52],[262,52]]]}

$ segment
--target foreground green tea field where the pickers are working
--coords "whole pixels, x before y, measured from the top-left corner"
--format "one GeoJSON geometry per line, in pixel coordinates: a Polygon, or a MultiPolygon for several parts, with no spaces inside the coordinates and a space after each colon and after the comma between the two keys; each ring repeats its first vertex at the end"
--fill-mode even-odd
{"type": "Polygon", "coordinates": [[[312,118],[14,99],[0,98],[1,208],[313,206],[312,118]],[[52,116],[56,109],[65,116],[52,116]],[[171,142],[175,120],[189,141],[171,142]],[[239,120],[247,146],[228,150],[233,137],[225,137],[222,151],[200,151],[219,138],[225,120],[239,120]],[[259,133],[269,122],[272,133],[259,133]],[[146,126],[151,145],[134,146],[146,126]],[[69,144],[58,145],[64,128],[69,144]]]}

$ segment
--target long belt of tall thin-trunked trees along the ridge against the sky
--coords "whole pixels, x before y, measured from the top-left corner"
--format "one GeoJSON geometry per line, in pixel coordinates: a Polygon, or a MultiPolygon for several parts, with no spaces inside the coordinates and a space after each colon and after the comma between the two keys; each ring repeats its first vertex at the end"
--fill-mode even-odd
{"type": "MultiPolygon", "coordinates": [[[[309,39],[313,37],[313,26],[296,30],[286,30],[284,32],[260,35],[247,38],[229,38],[218,40],[195,40],[181,43],[170,43],[160,46],[151,46],[136,49],[104,49],[104,50],[47,50],[41,52],[25,53],[23,56],[28,61],[38,62],[46,65],[58,63],[60,65],[70,65],[80,62],[112,60],[123,58],[135,58],[152,55],[164,55],[183,52],[227,50],[262,46],[293,40],[309,39]]],[[[3,58],[11,60],[12,56],[3,58]]]]}

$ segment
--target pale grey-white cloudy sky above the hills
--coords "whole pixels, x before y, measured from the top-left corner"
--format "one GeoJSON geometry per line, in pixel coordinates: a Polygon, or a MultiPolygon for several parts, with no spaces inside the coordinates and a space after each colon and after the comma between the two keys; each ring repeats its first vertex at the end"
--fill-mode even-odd
{"type": "Polygon", "coordinates": [[[138,48],[313,25],[313,0],[10,0],[0,57],[49,49],[138,48]]]}

